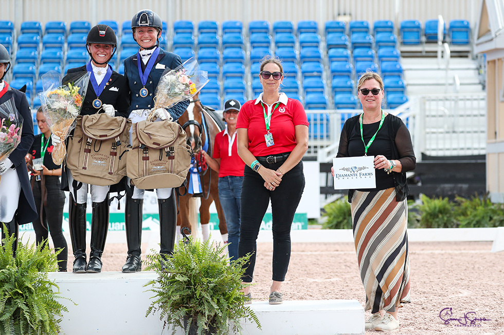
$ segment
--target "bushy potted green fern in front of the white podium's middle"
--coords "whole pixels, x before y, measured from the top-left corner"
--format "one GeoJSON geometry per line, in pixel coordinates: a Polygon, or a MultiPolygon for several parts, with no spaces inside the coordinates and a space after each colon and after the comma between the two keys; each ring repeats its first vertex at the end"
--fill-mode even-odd
{"type": "MultiPolygon", "coordinates": [[[[147,270],[154,270],[157,279],[145,286],[155,293],[146,317],[159,311],[164,328],[176,326],[184,328],[184,317],[197,322],[198,334],[215,327],[217,334],[227,334],[228,322],[233,331],[241,332],[240,320],[246,318],[261,328],[259,319],[250,307],[245,307],[244,287],[241,277],[242,266],[249,261],[247,255],[229,265],[225,246],[214,248],[210,240],[202,242],[189,237],[190,243],[180,241],[175,245],[173,255],[164,257],[153,253],[147,256],[147,270]],[[165,263],[166,271],[161,270],[165,263]]],[[[188,324],[186,334],[189,332],[188,324]]]]}

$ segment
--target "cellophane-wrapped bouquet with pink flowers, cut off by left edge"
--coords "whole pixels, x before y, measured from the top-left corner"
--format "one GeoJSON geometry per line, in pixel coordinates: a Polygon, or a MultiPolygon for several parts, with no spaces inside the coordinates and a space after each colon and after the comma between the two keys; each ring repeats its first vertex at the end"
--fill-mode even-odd
{"type": "Polygon", "coordinates": [[[17,112],[14,100],[9,99],[0,105],[0,162],[21,143],[22,130],[23,117],[17,112]]]}

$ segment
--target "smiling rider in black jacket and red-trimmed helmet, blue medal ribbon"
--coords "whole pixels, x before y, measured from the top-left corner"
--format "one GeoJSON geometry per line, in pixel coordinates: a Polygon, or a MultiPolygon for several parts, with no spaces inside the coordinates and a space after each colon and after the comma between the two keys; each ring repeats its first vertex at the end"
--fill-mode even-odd
{"type": "MultiPolygon", "coordinates": [[[[104,111],[109,116],[127,117],[129,105],[126,78],[113,71],[108,65],[117,48],[114,30],[107,25],[96,25],[87,34],[86,48],[91,61],[81,67],[69,69],[63,83],[73,82],[86,72],[91,72],[89,85],[82,104],[81,115],[91,115],[104,111]]],[[[52,143],[59,143],[58,136],[52,134],[52,143]]],[[[68,223],[74,249],[74,273],[101,272],[101,255],[109,230],[109,190],[110,186],[91,185],[91,253],[86,262],[86,207],[88,184],[74,180],[69,169],[63,169],[62,189],[70,191],[68,223]]]]}

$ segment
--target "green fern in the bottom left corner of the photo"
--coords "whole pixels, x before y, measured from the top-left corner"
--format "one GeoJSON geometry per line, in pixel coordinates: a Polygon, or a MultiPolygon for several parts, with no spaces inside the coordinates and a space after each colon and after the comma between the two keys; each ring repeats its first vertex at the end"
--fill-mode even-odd
{"type": "Polygon", "coordinates": [[[47,277],[48,271],[58,270],[56,255],[42,244],[25,245],[17,242],[12,255],[14,237],[6,238],[0,246],[0,333],[1,334],[59,334],[63,311],[58,302],[59,288],[47,277]]]}

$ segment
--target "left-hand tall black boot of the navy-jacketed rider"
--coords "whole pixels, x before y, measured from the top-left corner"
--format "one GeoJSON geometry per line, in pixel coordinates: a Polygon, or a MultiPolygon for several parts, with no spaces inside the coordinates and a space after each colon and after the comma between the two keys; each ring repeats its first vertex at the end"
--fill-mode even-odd
{"type": "Polygon", "coordinates": [[[142,241],[143,199],[132,199],[130,195],[127,195],[124,214],[128,258],[122,266],[122,272],[138,272],[142,270],[140,244],[142,241]]]}

